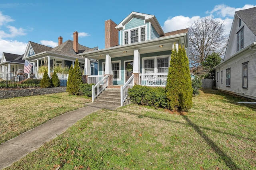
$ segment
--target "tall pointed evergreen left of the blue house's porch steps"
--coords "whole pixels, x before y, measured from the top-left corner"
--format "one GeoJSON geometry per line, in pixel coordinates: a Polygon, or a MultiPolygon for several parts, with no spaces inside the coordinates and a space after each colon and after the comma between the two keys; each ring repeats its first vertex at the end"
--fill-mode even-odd
{"type": "MultiPolygon", "coordinates": [[[[69,77],[70,75],[68,75],[69,77]]],[[[69,82],[69,94],[78,95],[80,94],[80,85],[82,84],[82,73],[80,70],[80,65],[78,59],[76,59],[72,75],[70,76],[71,81],[69,82]]]]}

